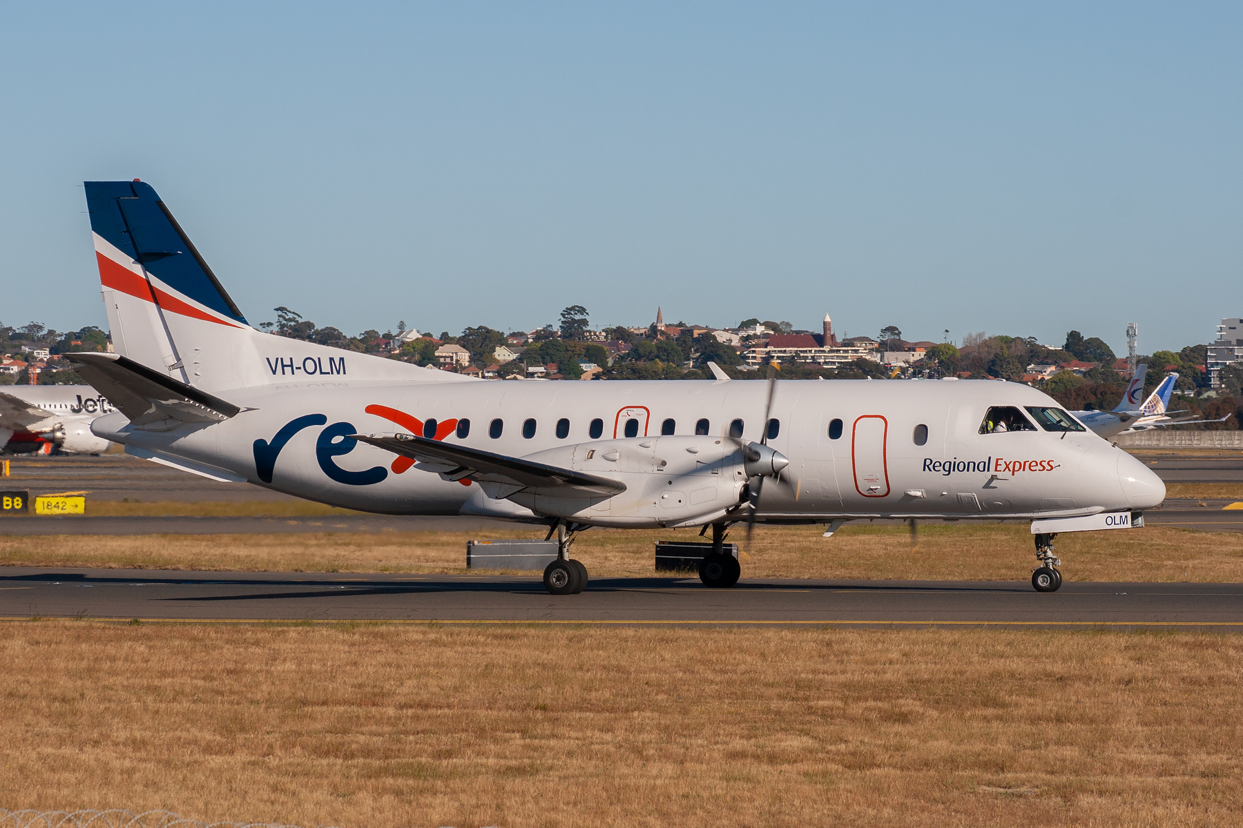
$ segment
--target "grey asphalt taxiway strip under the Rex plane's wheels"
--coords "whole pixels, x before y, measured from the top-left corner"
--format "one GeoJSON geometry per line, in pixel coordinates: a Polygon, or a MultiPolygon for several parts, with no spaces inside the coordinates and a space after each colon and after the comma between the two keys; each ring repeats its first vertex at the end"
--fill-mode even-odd
{"type": "Polygon", "coordinates": [[[1243,632],[1243,583],[595,578],[551,596],[537,575],[0,570],[0,617],[608,624],[988,624],[1243,632]]]}

